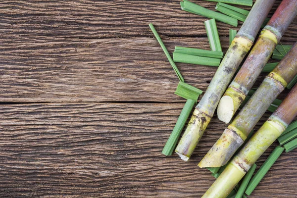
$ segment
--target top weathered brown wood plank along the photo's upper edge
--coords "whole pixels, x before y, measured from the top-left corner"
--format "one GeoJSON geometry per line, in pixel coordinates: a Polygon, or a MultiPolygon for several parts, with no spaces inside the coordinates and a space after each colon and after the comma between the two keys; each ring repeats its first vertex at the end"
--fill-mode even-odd
{"type": "MultiPolygon", "coordinates": [[[[216,3],[193,0],[214,10],[216,3]]],[[[281,0],[277,0],[271,14],[281,0]]],[[[248,6],[240,6],[250,9],[248,6]]],[[[152,36],[148,24],[172,37],[205,37],[207,20],[181,10],[180,0],[6,0],[0,3],[0,33],[60,38],[131,38],[152,36]]],[[[242,22],[239,22],[241,25],[242,22]]],[[[240,27],[240,26],[239,26],[240,27]]],[[[233,26],[218,22],[220,36],[233,26]]],[[[285,37],[295,38],[297,23],[285,37]]]]}

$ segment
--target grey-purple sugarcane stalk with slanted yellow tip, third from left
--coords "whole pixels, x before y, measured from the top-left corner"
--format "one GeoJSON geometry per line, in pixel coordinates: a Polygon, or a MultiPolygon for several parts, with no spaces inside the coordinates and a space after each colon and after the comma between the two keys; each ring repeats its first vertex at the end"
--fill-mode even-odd
{"type": "MultiPolygon", "coordinates": [[[[284,2],[284,1],[283,1],[284,2]]],[[[264,81],[218,141],[199,162],[199,167],[225,165],[235,151],[244,143],[248,134],[297,74],[297,42],[280,63],[265,77],[264,81]]]]}

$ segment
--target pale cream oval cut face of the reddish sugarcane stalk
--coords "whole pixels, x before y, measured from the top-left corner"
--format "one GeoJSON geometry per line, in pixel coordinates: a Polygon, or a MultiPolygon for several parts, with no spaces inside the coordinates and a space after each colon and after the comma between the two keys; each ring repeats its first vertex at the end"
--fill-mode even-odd
{"type": "Polygon", "coordinates": [[[217,114],[219,120],[229,123],[234,114],[233,99],[230,96],[223,96],[218,104],[217,114]]]}

